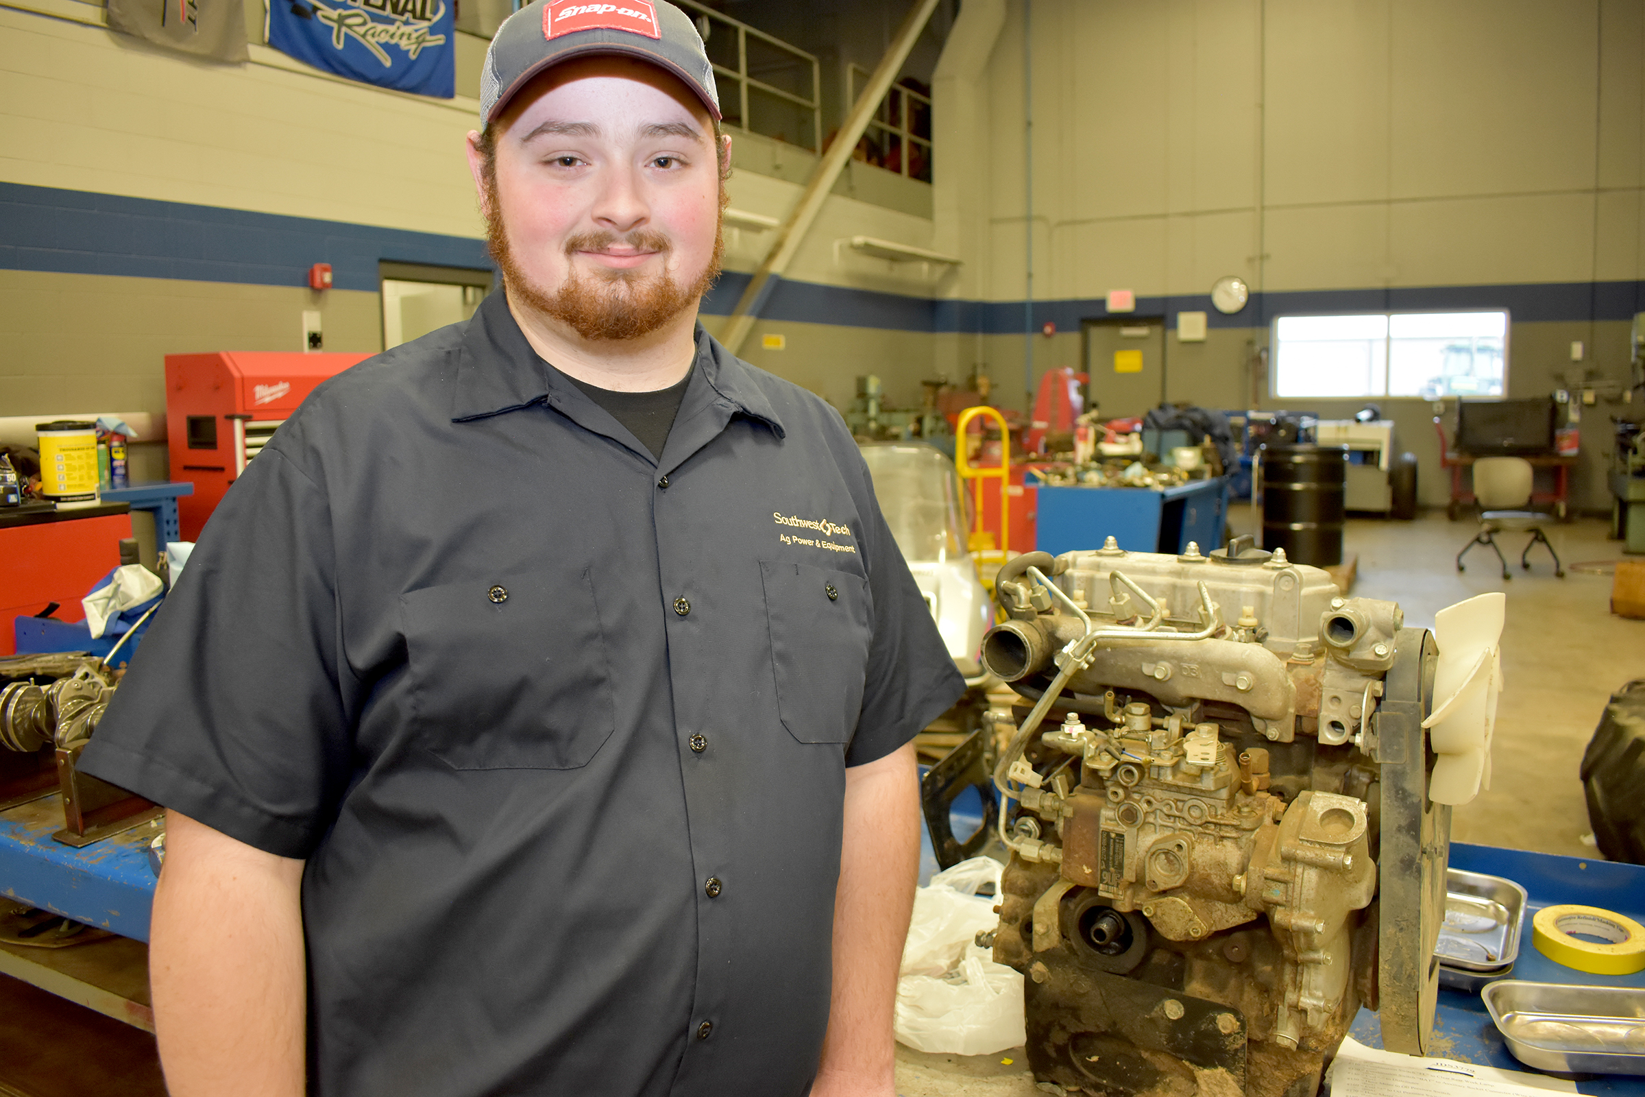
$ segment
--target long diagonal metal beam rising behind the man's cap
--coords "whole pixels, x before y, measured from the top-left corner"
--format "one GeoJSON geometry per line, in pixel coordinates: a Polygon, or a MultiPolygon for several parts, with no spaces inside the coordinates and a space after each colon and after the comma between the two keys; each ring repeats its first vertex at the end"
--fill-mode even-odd
{"type": "MultiPolygon", "coordinates": [[[[867,87],[857,95],[857,102],[852,104],[850,113],[846,115],[846,123],[839,128],[834,137],[834,143],[829,145],[827,151],[818,160],[816,169],[811,173],[811,179],[806,183],[806,189],[799,194],[799,201],[790,211],[788,217],[783,220],[781,227],[776,230],[776,238],[772,240],[772,250],[767,252],[765,260],[760,263],[758,270],[753,271],[753,280],[748,288],[742,291],[742,299],[737,301],[737,308],[732,309],[730,319],[725,322],[725,329],[721,334],[721,342],[732,354],[742,352],[742,344],[747,340],[748,332],[753,331],[753,321],[760,317],[760,309],[765,306],[765,299],[770,296],[772,289],[776,286],[776,280],[788,270],[793,262],[795,253],[804,242],[806,234],[811,230],[811,224],[816,220],[818,214],[822,211],[822,202],[827,201],[829,192],[834,189],[834,183],[839,179],[839,173],[844,171],[846,164],[850,161],[852,151],[857,148],[857,141],[862,140],[864,132],[869,128],[869,122],[873,118],[873,112],[878,109],[880,100],[885,94],[892,90],[892,82],[897,74],[903,69],[903,61],[908,59],[908,51],[913,49],[915,39],[920,38],[920,31],[931,20],[931,13],[936,10],[938,0],[915,0],[913,8],[908,12],[908,18],[897,30],[897,36],[892,39],[890,49],[880,58],[878,67],[873,76],[869,77],[867,87]]],[[[903,153],[906,156],[906,150],[903,153]]]]}

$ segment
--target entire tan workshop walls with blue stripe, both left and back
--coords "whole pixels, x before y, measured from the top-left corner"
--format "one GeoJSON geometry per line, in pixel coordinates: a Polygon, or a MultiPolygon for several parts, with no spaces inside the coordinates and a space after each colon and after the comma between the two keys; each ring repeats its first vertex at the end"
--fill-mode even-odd
{"type": "MultiPolygon", "coordinates": [[[[852,166],[750,360],[839,406],[859,373],[911,403],[921,378],[984,368],[1023,406],[1031,66],[1031,327],[1058,326],[1031,340],[1035,375],[1087,367],[1081,322],[1128,288],[1166,322],[1170,400],[1273,406],[1249,360],[1290,312],[1508,308],[1510,395],[1622,380],[1645,309],[1645,0],[1031,0],[1026,36],[1025,3],[966,0],[933,74],[934,186],[852,166]],[[872,260],[852,235],[962,265],[872,260]],[[1178,344],[1176,312],[1209,311],[1222,275],[1252,303],[1178,344]]],[[[479,43],[459,43],[466,71],[479,43]]],[[[485,265],[461,158],[477,104],[252,54],[188,61],[0,8],[0,406],[77,406],[97,378],[160,410],[163,349],[288,345],[316,303],[329,349],[372,349],[377,260],[485,265]],[[324,301],[313,262],[339,270],[324,301]]],[[[732,206],[781,217],[811,163],[737,135],[732,206]]],[[[711,329],[768,243],[727,230],[711,329]]],[[[1433,408],[1380,403],[1443,502],[1433,408]]],[[[1606,503],[1606,411],[1582,419],[1584,507],[1606,503]]]]}

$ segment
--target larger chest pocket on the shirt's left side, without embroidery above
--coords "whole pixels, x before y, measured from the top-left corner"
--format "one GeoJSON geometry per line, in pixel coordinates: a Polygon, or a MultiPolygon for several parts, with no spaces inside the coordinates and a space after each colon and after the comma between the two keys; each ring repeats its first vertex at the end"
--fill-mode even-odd
{"type": "Polygon", "coordinates": [[[405,613],[418,740],[454,770],[576,770],[615,727],[587,571],[413,590],[405,613]]]}

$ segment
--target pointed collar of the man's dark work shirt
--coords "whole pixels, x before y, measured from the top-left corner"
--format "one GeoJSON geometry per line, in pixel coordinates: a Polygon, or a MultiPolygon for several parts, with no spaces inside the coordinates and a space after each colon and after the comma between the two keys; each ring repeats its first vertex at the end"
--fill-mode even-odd
{"type": "MultiPolygon", "coordinates": [[[[783,437],[783,424],[760,388],[753,367],[722,347],[702,324],[696,329],[697,373],[732,408],[760,419],[783,437]]],[[[487,294],[462,336],[457,383],[451,400],[452,423],[485,419],[544,403],[549,393],[587,396],[559,370],[549,368],[526,340],[508,311],[502,286],[487,294]]]]}

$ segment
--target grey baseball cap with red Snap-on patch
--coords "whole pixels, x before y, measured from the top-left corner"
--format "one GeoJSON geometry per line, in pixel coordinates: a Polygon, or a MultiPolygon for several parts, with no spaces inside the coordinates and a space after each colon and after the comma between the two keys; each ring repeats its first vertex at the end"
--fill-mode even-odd
{"type": "Polygon", "coordinates": [[[538,72],[572,58],[615,53],[650,61],[697,94],[721,120],[714,66],[691,16],[666,0],[535,0],[510,15],[485,51],[480,122],[489,125],[538,72]]]}

